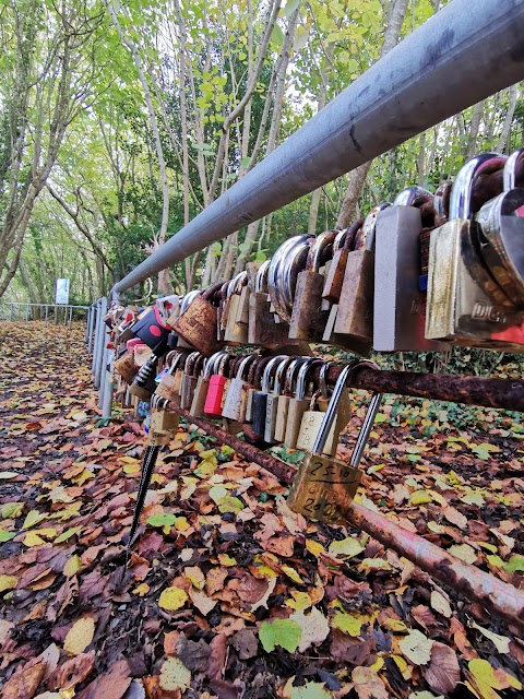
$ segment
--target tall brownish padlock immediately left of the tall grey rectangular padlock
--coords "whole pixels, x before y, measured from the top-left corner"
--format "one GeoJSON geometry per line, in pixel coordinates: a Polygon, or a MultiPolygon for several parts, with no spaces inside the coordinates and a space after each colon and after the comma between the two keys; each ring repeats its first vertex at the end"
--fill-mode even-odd
{"type": "Polygon", "coordinates": [[[346,348],[369,354],[373,339],[374,233],[377,216],[389,204],[376,206],[356,236],[356,248],[347,256],[334,332],[346,335],[346,348]]]}

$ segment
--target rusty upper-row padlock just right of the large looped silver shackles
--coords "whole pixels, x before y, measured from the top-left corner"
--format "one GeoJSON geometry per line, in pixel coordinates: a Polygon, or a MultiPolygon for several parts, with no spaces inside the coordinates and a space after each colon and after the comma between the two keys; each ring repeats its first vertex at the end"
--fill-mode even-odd
{"type": "Polygon", "coordinates": [[[306,269],[299,272],[293,300],[289,337],[320,342],[327,320],[322,310],[324,276],[320,273],[325,254],[333,249],[338,230],[325,230],[310,242],[306,269]]]}

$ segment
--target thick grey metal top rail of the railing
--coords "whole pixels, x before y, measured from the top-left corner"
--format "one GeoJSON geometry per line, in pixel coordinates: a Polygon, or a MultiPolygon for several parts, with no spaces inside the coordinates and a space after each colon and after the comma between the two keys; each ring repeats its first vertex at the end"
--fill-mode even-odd
{"type": "Polygon", "coordinates": [[[453,0],[115,285],[121,293],[524,78],[524,3],[453,0]]]}

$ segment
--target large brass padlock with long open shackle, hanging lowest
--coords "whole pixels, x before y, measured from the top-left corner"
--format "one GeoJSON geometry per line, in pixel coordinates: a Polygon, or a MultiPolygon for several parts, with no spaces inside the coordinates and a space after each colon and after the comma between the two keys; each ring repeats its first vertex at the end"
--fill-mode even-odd
{"type": "Polygon", "coordinates": [[[322,455],[338,402],[347,393],[346,382],[354,368],[347,366],[341,371],[312,451],[299,465],[287,498],[287,505],[295,512],[330,524],[344,524],[347,520],[361,478],[358,464],[382,398],[376,394],[371,400],[349,464],[322,455]]]}

